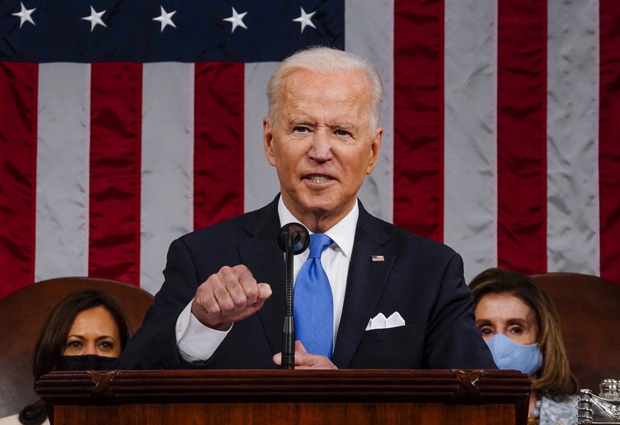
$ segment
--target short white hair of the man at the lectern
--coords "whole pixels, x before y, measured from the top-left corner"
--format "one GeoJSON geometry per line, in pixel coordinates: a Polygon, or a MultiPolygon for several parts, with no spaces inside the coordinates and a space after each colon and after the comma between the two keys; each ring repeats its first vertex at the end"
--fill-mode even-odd
{"type": "Polygon", "coordinates": [[[384,98],[384,88],[376,67],[353,53],[344,52],[327,47],[312,47],[300,50],[283,60],[271,74],[267,86],[269,102],[269,118],[276,118],[276,111],[280,106],[281,85],[284,77],[295,70],[308,70],[317,74],[334,74],[336,72],[364,72],[371,87],[371,126],[373,130],[381,123],[381,102],[384,98]]]}

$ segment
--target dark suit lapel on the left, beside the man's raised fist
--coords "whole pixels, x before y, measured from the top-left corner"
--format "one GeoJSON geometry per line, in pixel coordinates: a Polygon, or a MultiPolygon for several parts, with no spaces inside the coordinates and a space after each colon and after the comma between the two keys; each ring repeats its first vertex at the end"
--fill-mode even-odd
{"type": "Polygon", "coordinates": [[[258,220],[246,224],[251,233],[248,241],[239,245],[239,257],[254,275],[257,282],[268,283],[272,294],[258,311],[271,351],[282,349],[284,324],[284,253],[278,247],[278,198],[265,207],[258,220]]]}

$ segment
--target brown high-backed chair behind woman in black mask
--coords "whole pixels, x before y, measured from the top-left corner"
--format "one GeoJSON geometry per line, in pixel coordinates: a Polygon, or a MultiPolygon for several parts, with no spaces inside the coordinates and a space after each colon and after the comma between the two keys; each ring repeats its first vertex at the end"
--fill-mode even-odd
{"type": "Polygon", "coordinates": [[[92,277],[59,277],[28,285],[0,299],[0,417],[36,402],[33,351],[43,322],[53,307],[80,289],[101,289],[124,309],[136,331],[153,295],[134,285],[92,277]]]}

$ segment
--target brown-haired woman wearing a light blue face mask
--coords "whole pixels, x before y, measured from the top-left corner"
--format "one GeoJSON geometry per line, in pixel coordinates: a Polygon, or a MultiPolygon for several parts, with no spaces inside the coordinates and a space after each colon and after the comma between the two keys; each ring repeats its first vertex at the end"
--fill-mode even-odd
{"type": "Polygon", "coordinates": [[[491,268],[469,283],[476,325],[498,368],[530,375],[528,424],[577,424],[577,380],[570,366],[555,306],[521,272],[491,268]]]}

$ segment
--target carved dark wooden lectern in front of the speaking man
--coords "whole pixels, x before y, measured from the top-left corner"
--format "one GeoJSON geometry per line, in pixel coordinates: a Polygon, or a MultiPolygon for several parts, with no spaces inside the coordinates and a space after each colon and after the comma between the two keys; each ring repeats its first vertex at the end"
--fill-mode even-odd
{"type": "Polygon", "coordinates": [[[523,424],[513,370],[51,372],[36,390],[65,424],[523,424]]]}

